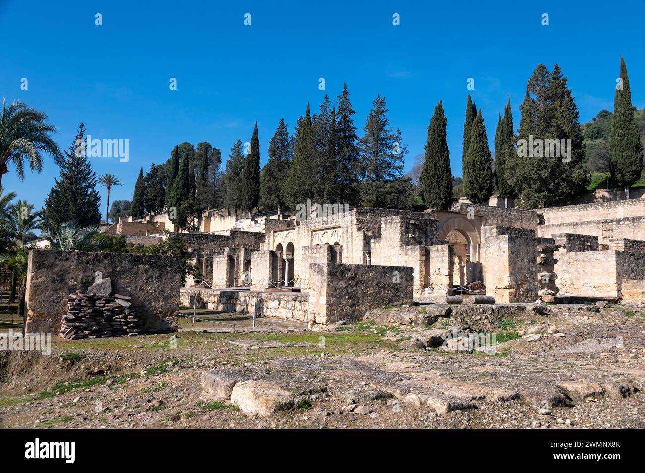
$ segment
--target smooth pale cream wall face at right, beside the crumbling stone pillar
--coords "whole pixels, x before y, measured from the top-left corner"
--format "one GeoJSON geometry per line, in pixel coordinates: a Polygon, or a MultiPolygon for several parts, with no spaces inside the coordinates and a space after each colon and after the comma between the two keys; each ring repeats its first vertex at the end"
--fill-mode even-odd
{"type": "Polygon", "coordinates": [[[617,251],[565,251],[558,254],[555,271],[561,295],[618,297],[620,278],[617,251]]]}

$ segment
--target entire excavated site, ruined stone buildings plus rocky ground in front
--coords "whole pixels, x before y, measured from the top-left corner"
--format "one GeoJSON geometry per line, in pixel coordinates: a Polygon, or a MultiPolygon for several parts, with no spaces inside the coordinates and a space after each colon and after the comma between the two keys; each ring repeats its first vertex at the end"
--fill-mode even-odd
{"type": "Polygon", "coordinates": [[[645,199],[340,210],[103,229],[199,280],[32,251],[0,427],[645,427],[645,199]]]}

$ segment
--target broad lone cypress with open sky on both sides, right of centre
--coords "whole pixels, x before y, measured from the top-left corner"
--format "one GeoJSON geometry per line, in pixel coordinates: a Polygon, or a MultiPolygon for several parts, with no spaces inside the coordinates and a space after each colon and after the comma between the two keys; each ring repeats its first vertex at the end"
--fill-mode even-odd
{"type": "Polygon", "coordinates": [[[446,117],[442,102],[435,111],[428,126],[426,157],[421,171],[421,197],[429,209],[449,210],[452,204],[452,169],[446,142],[446,117]]]}

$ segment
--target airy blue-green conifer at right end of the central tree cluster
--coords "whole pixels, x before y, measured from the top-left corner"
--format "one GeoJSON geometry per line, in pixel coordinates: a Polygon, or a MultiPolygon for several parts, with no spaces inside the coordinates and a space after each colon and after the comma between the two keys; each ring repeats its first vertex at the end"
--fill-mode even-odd
{"type": "MultiPolygon", "coordinates": [[[[364,137],[359,140],[361,202],[368,207],[399,208],[402,203],[402,196],[394,193],[393,187],[401,184],[397,180],[405,179],[403,157],[408,148],[402,145],[401,130],[393,132],[388,128],[387,115],[385,99],[377,95],[365,123],[364,137]]],[[[408,198],[405,201],[407,206],[408,198]]]]}

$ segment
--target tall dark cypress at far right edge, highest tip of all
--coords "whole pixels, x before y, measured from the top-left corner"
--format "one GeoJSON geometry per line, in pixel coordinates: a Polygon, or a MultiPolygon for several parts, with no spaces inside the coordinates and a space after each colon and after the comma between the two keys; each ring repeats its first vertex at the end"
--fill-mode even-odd
{"type": "Polygon", "coordinates": [[[625,60],[620,58],[620,79],[613,97],[613,120],[609,138],[609,157],[616,169],[616,181],[630,197],[630,186],[640,179],[643,168],[643,148],[631,105],[630,79],[625,60]]]}

